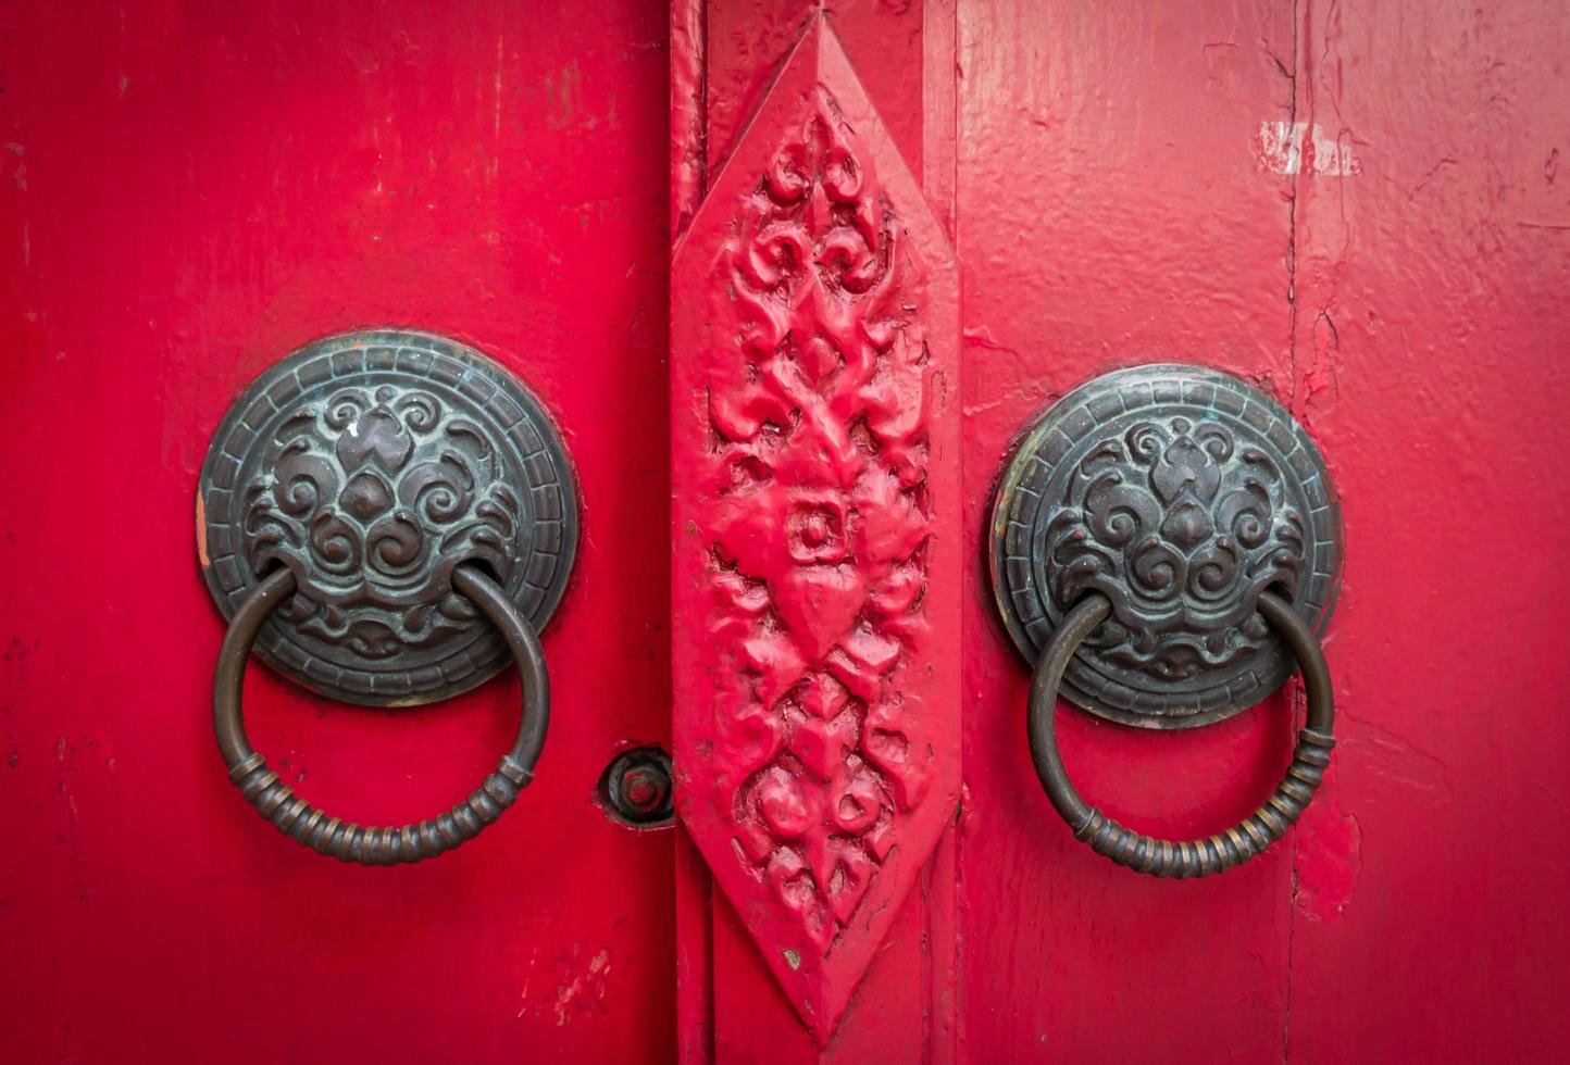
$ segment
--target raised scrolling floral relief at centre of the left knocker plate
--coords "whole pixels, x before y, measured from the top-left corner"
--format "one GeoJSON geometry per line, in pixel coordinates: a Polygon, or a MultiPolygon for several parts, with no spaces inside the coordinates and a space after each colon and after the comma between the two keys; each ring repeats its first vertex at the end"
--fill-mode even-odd
{"type": "Polygon", "coordinates": [[[498,477],[485,431],[430,392],[341,389],[284,419],[246,488],[251,568],[294,568],[284,616],[353,656],[438,646],[482,624],[452,568],[512,569],[523,514],[498,477]]]}

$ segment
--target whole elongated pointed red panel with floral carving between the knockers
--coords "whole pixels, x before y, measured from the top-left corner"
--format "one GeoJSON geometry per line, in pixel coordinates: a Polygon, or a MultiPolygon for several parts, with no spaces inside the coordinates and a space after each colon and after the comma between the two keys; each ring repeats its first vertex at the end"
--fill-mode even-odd
{"type": "Polygon", "coordinates": [[[826,1040],[959,783],[955,268],[823,19],[677,249],[678,809],[826,1040]]]}

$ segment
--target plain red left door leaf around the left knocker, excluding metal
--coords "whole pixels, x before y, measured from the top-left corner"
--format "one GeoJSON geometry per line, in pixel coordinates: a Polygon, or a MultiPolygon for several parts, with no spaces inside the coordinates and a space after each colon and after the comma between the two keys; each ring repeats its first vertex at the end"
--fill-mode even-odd
{"type": "MultiPolygon", "coordinates": [[[[0,1057],[674,1056],[672,833],[611,823],[669,742],[666,11],[13,5],[5,50],[0,1057]],[[539,778],[430,863],[339,864],[228,783],[192,500],[273,359],[446,333],[556,416],[584,496],[539,778]]],[[[413,712],[253,663],[256,745],[334,812],[429,816],[517,681],[413,712]]]]}

